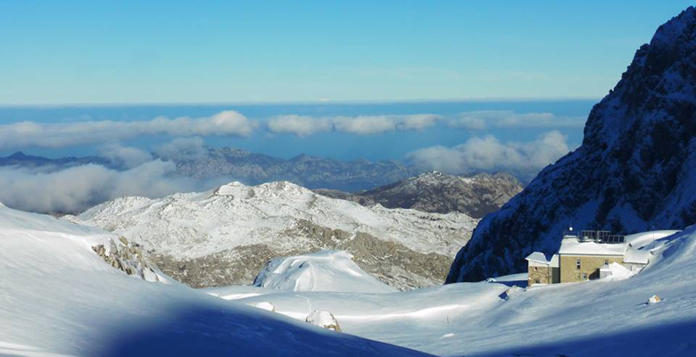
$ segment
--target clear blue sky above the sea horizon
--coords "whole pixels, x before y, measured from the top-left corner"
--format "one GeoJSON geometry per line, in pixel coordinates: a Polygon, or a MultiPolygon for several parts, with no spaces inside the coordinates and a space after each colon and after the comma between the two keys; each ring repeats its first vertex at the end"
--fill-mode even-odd
{"type": "Polygon", "coordinates": [[[670,1],[0,2],[0,104],[599,98],[670,1]]]}

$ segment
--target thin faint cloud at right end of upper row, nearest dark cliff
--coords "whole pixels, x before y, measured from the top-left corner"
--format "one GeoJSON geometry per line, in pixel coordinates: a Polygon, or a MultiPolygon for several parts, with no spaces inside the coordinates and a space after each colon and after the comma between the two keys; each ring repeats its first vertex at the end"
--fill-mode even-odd
{"type": "Polygon", "coordinates": [[[496,128],[576,128],[584,126],[583,117],[559,116],[551,112],[476,111],[462,112],[449,120],[452,128],[483,130],[496,128]]]}

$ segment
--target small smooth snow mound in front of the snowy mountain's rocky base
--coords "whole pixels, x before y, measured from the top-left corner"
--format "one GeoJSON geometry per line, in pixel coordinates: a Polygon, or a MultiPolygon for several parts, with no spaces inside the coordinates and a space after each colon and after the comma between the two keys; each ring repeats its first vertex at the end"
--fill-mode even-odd
{"type": "Polygon", "coordinates": [[[396,289],[361,270],[344,251],[277,258],[253,281],[254,286],[285,291],[394,293],[396,289]]]}

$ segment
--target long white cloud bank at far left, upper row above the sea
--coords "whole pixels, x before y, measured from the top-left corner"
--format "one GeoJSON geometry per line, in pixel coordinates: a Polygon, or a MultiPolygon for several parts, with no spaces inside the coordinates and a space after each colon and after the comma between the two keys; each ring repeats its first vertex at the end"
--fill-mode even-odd
{"type": "Polygon", "coordinates": [[[47,124],[22,121],[0,125],[0,149],[117,142],[140,136],[170,137],[249,136],[255,123],[239,112],[219,112],[205,118],[164,117],[144,121],[74,121],[47,124]]]}

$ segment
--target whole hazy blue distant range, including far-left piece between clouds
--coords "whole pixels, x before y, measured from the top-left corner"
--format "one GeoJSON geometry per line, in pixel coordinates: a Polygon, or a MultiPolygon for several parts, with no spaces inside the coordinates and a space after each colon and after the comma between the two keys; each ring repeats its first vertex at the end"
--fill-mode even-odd
{"type": "MultiPolygon", "coordinates": [[[[330,188],[347,192],[384,186],[420,173],[412,167],[394,161],[344,162],[308,154],[284,160],[230,147],[208,148],[203,155],[195,158],[175,158],[171,161],[177,165],[178,174],[195,179],[240,181],[247,185],[283,180],[302,187],[330,188]]],[[[120,167],[119,162],[111,162],[98,156],[49,159],[17,152],[0,157],[0,166],[46,170],[62,170],[89,163],[116,170],[124,169],[120,167]]]]}

